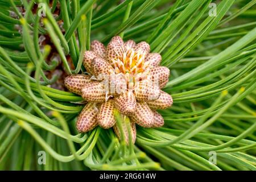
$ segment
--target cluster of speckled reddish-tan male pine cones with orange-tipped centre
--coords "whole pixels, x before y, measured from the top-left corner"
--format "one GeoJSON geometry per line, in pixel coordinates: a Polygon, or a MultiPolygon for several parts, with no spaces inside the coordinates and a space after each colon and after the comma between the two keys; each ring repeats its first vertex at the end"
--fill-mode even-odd
{"type": "Polygon", "coordinates": [[[84,53],[83,65],[87,73],[69,75],[64,80],[70,92],[87,101],[78,117],[77,130],[85,133],[97,125],[104,129],[113,127],[120,139],[115,110],[130,119],[130,133],[127,126],[122,125],[127,144],[129,135],[135,142],[135,124],[163,126],[164,119],[156,110],[170,107],[172,97],[160,90],[170,76],[167,67],[159,66],[161,60],[159,53],[150,53],[146,42],[123,42],[122,38],[114,36],[105,48],[94,40],[90,51],[84,53]]]}

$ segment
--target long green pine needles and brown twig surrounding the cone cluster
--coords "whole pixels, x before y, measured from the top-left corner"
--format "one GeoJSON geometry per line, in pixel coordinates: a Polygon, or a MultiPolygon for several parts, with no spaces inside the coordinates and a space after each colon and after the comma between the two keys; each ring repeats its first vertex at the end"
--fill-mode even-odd
{"type": "MultiPolygon", "coordinates": [[[[0,0],[0,169],[255,170],[256,0],[0,0]],[[171,77],[164,126],[75,128],[92,40],[146,41],[171,77]]],[[[118,123],[123,123],[117,115],[118,123]]]]}

